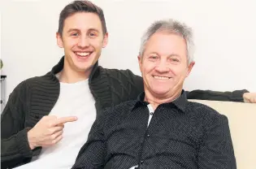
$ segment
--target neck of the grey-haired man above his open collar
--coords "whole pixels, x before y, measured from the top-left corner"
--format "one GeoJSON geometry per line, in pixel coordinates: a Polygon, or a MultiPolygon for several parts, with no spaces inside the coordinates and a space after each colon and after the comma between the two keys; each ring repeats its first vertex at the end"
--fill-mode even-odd
{"type": "Polygon", "coordinates": [[[160,104],[172,102],[176,100],[176,98],[179,98],[181,92],[182,92],[182,89],[173,91],[171,94],[168,93],[168,96],[159,97],[157,94],[150,93],[149,90],[145,90],[145,102],[149,102],[150,105],[153,106],[153,109],[156,110],[156,108],[160,104]]]}

